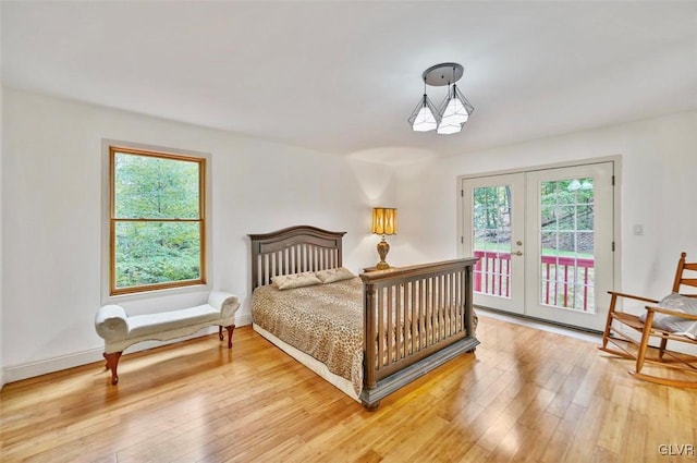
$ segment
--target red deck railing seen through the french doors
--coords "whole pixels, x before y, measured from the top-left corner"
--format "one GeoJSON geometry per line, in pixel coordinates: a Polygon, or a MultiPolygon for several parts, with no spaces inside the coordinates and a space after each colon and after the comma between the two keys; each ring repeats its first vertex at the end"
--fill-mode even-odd
{"type": "MultiPolygon", "coordinates": [[[[511,296],[511,254],[490,251],[475,251],[479,261],[474,269],[475,292],[510,297],[511,296]]],[[[541,256],[542,303],[561,307],[588,310],[589,288],[592,288],[594,259],[541,256]],[[573,280],[574,268],[580,275],[573,280]],[[570,281],[570,277],[572,281],[570,281]],[[583,307],[575,301],[575,290],[583,292],[583,307]],[[571,304],[570,304],[571,303],[571,304]]]]}

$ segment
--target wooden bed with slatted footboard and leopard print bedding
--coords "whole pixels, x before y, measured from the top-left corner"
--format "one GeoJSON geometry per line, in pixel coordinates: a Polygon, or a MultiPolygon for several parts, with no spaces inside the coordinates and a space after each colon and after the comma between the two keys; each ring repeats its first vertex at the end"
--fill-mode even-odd
{"type": "Polygon", "coordinates": [[[375,410],[399,388],[475,351],[472,275],[477,259],[346,276],[335,270],[342,268],[344,234],[299,226],[248,235],[253,328],[375,410]],[[339,273],[342,279],[331,281],[339,273]],[[314,275],[330,277],[279,289],[280,279],[314,275]]]}

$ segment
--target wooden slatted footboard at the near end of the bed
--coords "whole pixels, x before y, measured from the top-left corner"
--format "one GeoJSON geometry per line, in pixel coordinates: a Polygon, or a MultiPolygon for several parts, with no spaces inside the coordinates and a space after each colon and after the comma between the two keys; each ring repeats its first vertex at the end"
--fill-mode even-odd
{"type": "Polygon", "coordinates": [[[364,388],[380,400],[449,360],[475,350],[472,271],[476,258],[363,273],[364,388]]]}

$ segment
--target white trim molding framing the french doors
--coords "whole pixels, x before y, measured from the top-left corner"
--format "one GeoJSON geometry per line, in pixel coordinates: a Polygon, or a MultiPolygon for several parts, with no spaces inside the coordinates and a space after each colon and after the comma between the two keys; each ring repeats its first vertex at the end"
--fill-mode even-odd
{"type": "Polygon", "coordinates": [[[457,257],[463,258],[466,257],[464,255],[464,233],[465,233],[465,223],[464,223],[464,197],[463,197],[463,188],[462,184],[464,180],[468,179],[477,179],[481,176],[492,176],[492,175],[503,175],[510,173],[524,173],[524,172],[533,172],[538,170],[548,170],[548,169],[559,169],[559,168],[568,168],[568,167],[579,167],[579,166],[588,166],[595,163],[602,162],[613,162],[613,180],[614,180],[614,193],[613,193],[613,236],[614,236],[614,254],[612,259],[613,267],[613,287],[616,289],[622,288],[622,200],[621,200],[621,192],[622,192],[622,155],[613,155],[613,156],[602,156],[597,158],[588,158],[588,159],[577,159],[570,160],[563,162],[554,162],[547,165],[537,165],[529,167],[521,167],[514,169],[504,169],[504,170],[494,170],[494,171],[486,171],[486,172],[474,172],[474,173],[465,173],[460,174],[455,179],[455,197],[457,204],[457,257]]]}

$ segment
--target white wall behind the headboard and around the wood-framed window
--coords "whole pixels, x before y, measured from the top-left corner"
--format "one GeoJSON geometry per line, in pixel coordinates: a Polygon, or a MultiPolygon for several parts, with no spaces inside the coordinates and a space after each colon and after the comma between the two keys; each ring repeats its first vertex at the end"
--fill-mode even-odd
{"type": "MultiPolygon", "coordinates": [[[[345,266],[358,271],[377,260],[370,207],[386,200],[381,183],[390,178],[364,176],[375,170],[365,161],[17,89],[3,97],[8,381],[100,360],[93,320],[102,296],[102,138],[211,154],[212,285],[244,301],[239,324],[249,322],[247,233],[293,224],[347,231],[345,266]]],[[[137,314],[204,298],[194,291],[124,306],[137,314]]]]}

